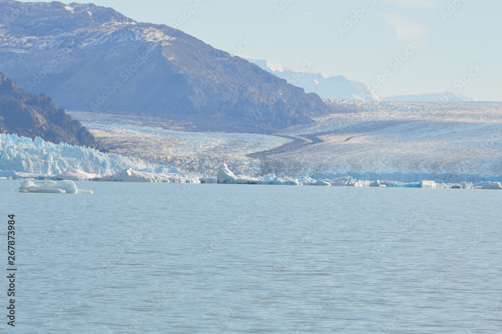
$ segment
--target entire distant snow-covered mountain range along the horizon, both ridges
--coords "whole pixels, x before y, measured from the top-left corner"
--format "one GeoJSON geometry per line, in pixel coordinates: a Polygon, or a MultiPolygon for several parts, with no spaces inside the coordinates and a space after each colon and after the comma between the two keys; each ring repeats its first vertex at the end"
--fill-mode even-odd
{"type": "Polygon", "coordinates": [[[374,88],[362,82],[347,79],[343,75],[327,77],[321,73],[305,73],[270,60],[240,56],[264,70],[301,87],[307,93],[316,93],[324,99],[355,99],[366,101],[410,102],[470,102],[476,101],[467,95],[452,91],[425,92],[406,95],[382,96],[374,88]]]}

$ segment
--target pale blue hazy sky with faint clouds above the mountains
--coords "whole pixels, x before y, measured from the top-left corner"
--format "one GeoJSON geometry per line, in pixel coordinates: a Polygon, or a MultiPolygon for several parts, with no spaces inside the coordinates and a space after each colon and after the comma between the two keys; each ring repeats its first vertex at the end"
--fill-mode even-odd
{"type": "Polygon", "coordinates": [[[383,95],[502,101],[498,0],[95,0],[217,49],[344,75],[383,95]],[[308,65],[305,65],[308,64],[308,65]]]}

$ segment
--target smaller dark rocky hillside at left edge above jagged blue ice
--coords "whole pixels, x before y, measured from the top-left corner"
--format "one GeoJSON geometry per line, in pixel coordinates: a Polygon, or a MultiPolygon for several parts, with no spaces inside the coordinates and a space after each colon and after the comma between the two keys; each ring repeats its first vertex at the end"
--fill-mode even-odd
{"type": "Polygon", "coordinates": [[[0,73],[0,133],[107,150],[80,122],[73,121],[64,109],[58,109],[50,97],[27,93],[3,73],[0,73]]]}

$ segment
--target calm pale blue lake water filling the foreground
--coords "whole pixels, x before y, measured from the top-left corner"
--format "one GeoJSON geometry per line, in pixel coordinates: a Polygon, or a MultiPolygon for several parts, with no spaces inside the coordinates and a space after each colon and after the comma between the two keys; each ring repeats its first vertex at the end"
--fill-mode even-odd
{"type": "Polygon", "coordinates": [[[18,185],[9,332],[502,332],[502,191],[18,185]]]}

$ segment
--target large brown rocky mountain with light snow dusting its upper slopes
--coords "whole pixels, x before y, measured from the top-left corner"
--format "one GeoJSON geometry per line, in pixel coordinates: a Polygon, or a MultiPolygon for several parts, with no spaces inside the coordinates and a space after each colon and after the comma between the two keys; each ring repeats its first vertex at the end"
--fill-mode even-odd
{"type": "Polygon", "coordinates": [[[238,120],[256,132],[328,111],[318,95],[246,60],[93,4],[0,1],[0,70],[80,111],[238,120]]]}

